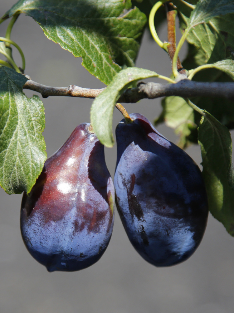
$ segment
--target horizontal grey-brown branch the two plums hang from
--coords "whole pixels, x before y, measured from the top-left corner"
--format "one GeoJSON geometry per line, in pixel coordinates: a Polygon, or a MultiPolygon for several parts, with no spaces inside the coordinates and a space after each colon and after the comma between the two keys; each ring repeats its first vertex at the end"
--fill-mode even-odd
{"type": "MultiPolygon", "coordinates": [[[[105,88],[89,89],[75,85],[69,87],[50,87],[41,85],[35,81],[26,81],[23,86],[41,93],[42,97],[68,96],[91,98],[97,97],[105,88]]],[[[137,87],[126,89],[118,102],[135,103],[141,99],[155,99],[166,96],[180,97],[226,97],[234,100],[234,83],[232,82],[197,82],[183,79],[176,84],[159,84],[154,82],[140,82],[137,87]]]]}

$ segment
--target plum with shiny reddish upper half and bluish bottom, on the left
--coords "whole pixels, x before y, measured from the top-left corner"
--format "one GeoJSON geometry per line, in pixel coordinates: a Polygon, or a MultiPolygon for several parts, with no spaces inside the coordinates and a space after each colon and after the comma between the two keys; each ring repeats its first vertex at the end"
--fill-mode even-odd
{"type": "Polygon", "coordinates": [[[76,271],[105,252],[114,222],[114,185],[104,146],[90,124],[76,127],[46,160],[21,206],[21,232],[32,256],[49,272],[76,271]]]}

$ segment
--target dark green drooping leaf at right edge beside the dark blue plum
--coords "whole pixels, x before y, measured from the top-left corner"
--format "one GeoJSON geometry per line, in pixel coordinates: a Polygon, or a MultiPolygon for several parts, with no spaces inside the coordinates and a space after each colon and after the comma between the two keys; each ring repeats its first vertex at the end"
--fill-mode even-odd
{"type": "Polygon", "coordinates": [[[228,129],[205,112],[198,128],[209,210],[234,236],[234,170],[228,129]]]}

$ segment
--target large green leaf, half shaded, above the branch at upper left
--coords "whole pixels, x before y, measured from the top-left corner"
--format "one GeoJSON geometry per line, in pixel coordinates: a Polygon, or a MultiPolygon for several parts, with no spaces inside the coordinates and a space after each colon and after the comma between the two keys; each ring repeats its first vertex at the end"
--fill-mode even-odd
{"type": "Polygon", "coordinates": [[[45,35],[82,57],[82,65],[105,84],[121,66],[133,66],[146,23],[130,0],[20,0],[5,15],[34,18],[45,35]]]}

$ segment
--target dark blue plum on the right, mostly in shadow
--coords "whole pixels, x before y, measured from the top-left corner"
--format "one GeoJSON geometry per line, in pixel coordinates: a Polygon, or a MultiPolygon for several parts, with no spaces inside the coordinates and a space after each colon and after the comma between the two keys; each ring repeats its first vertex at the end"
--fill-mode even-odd
{"type": "Polygon", "coordinates": [[[188,259],[200,244],[208,206],[194,161],[141,114],[116,128],[116,205],[130,242],[155,266],[188,259]]]}

